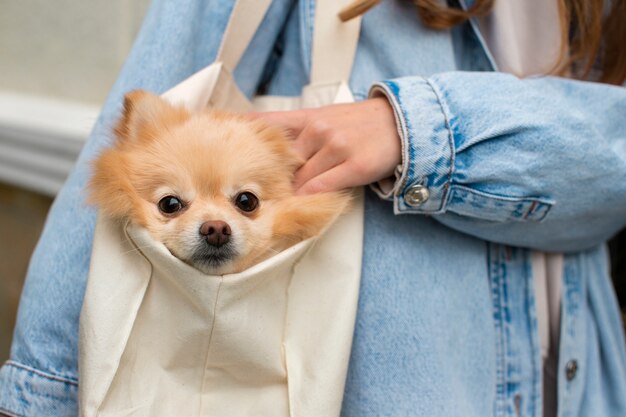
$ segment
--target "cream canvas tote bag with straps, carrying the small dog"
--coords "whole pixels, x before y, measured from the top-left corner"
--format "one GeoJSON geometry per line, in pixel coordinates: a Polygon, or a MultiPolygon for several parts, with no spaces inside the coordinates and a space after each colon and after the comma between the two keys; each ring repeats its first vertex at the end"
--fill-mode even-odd
{"type": "MultiPolygon", "coordinates": [[[[346,80],[360,22],[336,18],[344,0],[317,2],[312,82],[301,97],[251,103],[239,91],[232,70],[269,4],[237,1],[216,61],[163,97],[233,111],[352,101],[346,80]]],[[[210,276],[143,228],[99,216],[80,318],[80,414],[339,416],[362,241],[358,193],[318,239],[241,273],[210,276]]]]}

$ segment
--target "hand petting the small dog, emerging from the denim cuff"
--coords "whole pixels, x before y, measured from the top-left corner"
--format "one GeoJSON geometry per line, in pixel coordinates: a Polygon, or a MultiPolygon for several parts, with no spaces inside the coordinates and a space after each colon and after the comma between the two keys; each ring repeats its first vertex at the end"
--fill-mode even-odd
{"type": "Polygon", "coordinates": [[[370,184],[392,176],[401,163],[395,116],[383,97],[252,117],[293,135],[294,149],[305,161],[295,173],[297,194],[370,184]]]}

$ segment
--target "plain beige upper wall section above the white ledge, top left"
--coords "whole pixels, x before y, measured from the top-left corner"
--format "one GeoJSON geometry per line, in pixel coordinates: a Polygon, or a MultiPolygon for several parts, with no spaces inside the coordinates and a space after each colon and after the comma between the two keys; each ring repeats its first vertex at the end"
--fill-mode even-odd
{"type": "Polygon", "coordinates": [[[101,103],[149,0],[1,0],[0,90],[101,103]]]}

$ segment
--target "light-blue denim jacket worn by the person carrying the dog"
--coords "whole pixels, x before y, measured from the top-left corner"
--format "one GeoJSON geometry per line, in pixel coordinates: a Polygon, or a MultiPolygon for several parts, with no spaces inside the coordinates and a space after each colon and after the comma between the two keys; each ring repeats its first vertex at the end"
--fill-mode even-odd
{"type": "MultiPolygon", "coordinates": [[[[153,2],[33,256],[0,412],[77,414],[88,161],[110,143],[126,91],[163,92],[213,60],[232,6],[153,2]]],[[[300,93],[314,9],[273,2],[235,72],[244,92],[300,93]]],[[[350,84],[357,99],[390,100],[403,170],[392,193],[366,197],[344,417],[540,417],[532,249],[565,253],[558,415],[626,416],[604,246],[626,223],[626,90],[493,69],[471,23],[429,30],[400,0],[364,17],[350,84]]]]}

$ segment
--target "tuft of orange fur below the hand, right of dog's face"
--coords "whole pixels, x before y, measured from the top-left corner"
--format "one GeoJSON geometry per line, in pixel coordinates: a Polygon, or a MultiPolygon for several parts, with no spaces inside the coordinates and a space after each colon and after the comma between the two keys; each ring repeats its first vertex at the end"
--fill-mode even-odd
{"type": "Polygon", "coordinates": [[[351,200],[349,192],[289,197],[277,210],[274,236],[290,242],[317,236],[347,210],[351,200]]]}

